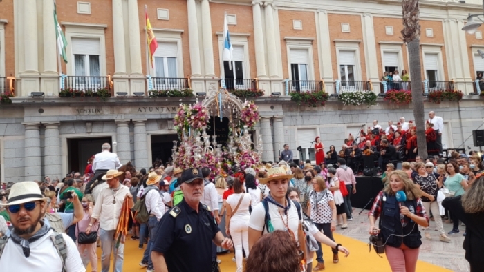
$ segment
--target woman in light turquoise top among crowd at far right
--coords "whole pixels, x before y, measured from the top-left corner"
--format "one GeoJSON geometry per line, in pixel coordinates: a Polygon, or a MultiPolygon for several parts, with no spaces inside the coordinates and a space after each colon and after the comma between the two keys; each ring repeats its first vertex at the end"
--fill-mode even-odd
{"type": "MultiPolygon", "coordinates": [[[[467,180],[464,179],[463,175],[458,173],[459,167],[455,162],[449,162],[446,165],[447,169],[447,178],[445,179],[444,185],[449,191],[454,193],[454,197],[458,197],[459,195],[463,195],[465,190],[467,189],[467,180]]],[[[452,231],[449,231],[448,234],[459,233],[459,220],[458,218],[451,213],[451,219],[453,221],[453,228],[452,231]]]]}

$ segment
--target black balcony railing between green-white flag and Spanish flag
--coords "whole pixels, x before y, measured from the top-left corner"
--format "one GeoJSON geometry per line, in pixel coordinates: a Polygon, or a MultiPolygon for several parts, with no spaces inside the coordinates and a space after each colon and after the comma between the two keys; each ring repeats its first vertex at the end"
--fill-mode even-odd
{"type": "Polygon", "coordinates": [[[72,88],[74,90],[112,90],[111,76],[107,77],[86,77],[68,75],[60,77],[61,88],[72,88]]]}

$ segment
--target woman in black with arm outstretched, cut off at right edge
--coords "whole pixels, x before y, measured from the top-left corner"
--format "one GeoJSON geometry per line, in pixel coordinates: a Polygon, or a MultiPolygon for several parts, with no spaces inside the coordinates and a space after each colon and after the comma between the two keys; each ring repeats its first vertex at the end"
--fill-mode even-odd
{"type": "Polygon", "coordinates": [[[447,197],[442,206],[465,224],[465,260],[471,272],[482,271],[484,267],[484,176],[479,176],[469,185],[469,190],[458,197],[447,197]]]}

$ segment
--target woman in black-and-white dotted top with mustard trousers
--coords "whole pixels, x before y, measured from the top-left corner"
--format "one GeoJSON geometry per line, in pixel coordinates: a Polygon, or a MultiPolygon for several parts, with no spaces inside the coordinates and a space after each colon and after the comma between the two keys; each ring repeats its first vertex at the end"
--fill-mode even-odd
{"type": "MultiPolygon", "coordinates": [[[[322,231],[331,240],[333,238],[333,231],[336,229],[336,205],[335,199],[331,191],[326,188],[324,179],[320,176],[313,177],[311,180],[313,191],[309,195],[309,215],[313,223],[319,231],[322,231]]],[[[319,249],[316,251],[317,266],[313,271],[321,271],[324,269],[323,251],[321,244],[318,243],[319,249]]],[[[338,251],[333,249],[333,262],[339,262],[338,251]]]]}

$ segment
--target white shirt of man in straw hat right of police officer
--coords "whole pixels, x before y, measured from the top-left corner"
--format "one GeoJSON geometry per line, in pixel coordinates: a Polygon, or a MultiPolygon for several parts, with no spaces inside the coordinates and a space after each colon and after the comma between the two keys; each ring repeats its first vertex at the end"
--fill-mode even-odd
{"type": "MultiPolygon", "coordinates": [[[[297,210],[294,203],[291,203],[288,215],[285,215],[282,209],[279,209],[276,205],[269,202],[269,215],[272,226],[274,226],[274,231],[284,231],[286,229],[286,226],[284,226],[284,224],[288,222],[289,229],[296,236],[296,241],[298,240],[297,228],[299,227],[299,223],[302,224],[302,220],[299,221],[299,215],[297,215],[297,210]],[[279,213],[279,211],[281,211],[281,213],[279,213]],[[282,222],[281,214],[284,222],[282,222]]],[[[252,210],[252,213],[250,214],[249,227],[256,231],[262,231],[263,229],[263,233],[267,233],[267,228],[265,226],[266,222],[264,222],[265,217],[266,211],[264,210],[262,202],[260,202],[259,204],[257,204],[257,206],[255,206],[255,208],[252,210]]]]}

